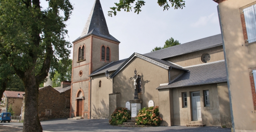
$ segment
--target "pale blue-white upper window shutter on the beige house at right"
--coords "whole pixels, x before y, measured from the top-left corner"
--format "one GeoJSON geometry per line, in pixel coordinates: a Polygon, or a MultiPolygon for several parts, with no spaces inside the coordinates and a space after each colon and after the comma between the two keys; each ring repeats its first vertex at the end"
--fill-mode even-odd
{"type": "Polygon", "coordinates": [[[255,17],[255,6],[252,5],[243,9],[244,12],[244,20],[247,30],[248,42],[256,41],[256,17],[255,17]]]}

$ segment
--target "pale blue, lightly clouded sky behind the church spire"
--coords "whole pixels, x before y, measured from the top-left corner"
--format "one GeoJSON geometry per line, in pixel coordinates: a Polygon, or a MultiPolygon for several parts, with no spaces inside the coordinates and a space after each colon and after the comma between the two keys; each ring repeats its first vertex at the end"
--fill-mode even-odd
{"type": "MultiPolygon", "coordinates": [[[[94,1],[70,0],[74,10],[66,22],[67,41],[73,42],[81,35],[94,1]]],[[[170,8],[168,11],[163,11],[157,0],[144,1],[146,3],[140,14],[134,13],[133,9],[132,12],[121,11],[109,17],[109,8],[119,0],[101,0],[109,33],[121,42],[119,60],[130,57],[134,52],[145,54],[156,46],[163,47],[164,42],[171,37],[186,43],[221,33],[218,4],[213,0],[186,0],[183,9],[170,8]]],[[[40,2],[43,8],[48,6],[45,0],[40,2]]],[[[70,50],[73,52],[72,48],[70,50]]]]}

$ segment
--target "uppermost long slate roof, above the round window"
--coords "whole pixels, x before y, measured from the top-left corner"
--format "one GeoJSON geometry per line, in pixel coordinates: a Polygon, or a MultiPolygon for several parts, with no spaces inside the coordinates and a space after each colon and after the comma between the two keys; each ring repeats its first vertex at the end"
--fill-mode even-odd
{"type": "Polygon", "coordinates": [[[144,55],[158,58],[158,59],[165,59],[165,58],[187,54],[187,53],[195,52],[198,50],[208,49],[208,48],[217,47],[221,45],[222,45],[221,34],[217,34],[214,36],[191,41],[188,43],[183,43],[177,46],[146,53],[144,55]]]}

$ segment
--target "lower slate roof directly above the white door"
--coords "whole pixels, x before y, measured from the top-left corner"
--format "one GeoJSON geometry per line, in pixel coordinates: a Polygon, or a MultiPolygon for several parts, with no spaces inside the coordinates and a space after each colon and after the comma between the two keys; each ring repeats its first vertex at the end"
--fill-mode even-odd
{"type": "Polygon", "coordinates": [[[184,68],[189,71],[171,82],[171,84],[159,86],[157,89],[227,82],[224,60],[184,68]]]}

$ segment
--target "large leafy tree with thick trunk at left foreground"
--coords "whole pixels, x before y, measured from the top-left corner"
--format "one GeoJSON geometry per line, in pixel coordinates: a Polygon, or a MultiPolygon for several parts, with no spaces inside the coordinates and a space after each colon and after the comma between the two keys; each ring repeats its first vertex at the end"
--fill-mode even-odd
{"type": "Polygon", "coordinates": [[[65,22],[73,6],[69,0],[46,1],[48,8],[43,10],[40,0],[0,0],[0,55],[25,86],[23,132],[42,132],[39,85],[59,60],[68,60],[72,47],[65,40],[65,22]]]}

